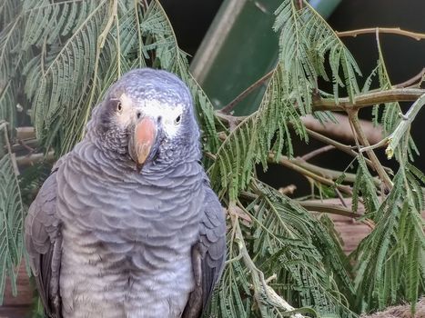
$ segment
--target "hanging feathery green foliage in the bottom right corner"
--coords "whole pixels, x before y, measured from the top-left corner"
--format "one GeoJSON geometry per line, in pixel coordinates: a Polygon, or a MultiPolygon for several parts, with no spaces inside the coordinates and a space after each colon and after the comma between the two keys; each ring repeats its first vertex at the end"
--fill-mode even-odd
{"type": "Polygon", "coordinates": [[[377,211],[375,229],[359,245],[356,287],[359,300],[368,308],[383,309],[401,296],[414,309],[419,294],[425,292],[425,235],[420,216],[424,202],[419,186],[423,177],[410,164],[400,168],[393,190],[377,211]]]}

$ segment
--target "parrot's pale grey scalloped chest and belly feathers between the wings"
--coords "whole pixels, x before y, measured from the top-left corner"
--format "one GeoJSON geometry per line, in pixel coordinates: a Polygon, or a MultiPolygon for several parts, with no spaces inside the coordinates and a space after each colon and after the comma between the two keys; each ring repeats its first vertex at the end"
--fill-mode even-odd
{"type": "Polygon", "coordinates": [[[64,317],[179,317],[194,284],[201,167],[128,174],[101,155],[80,146],[57,172],[64,317]]]}

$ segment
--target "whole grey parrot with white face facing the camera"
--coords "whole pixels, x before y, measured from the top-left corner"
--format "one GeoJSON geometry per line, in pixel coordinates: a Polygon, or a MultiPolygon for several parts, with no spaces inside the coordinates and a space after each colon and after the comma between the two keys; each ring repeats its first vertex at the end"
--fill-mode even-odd
{"type": "Polygon", "coordinates": [[[226,258],[225,215],[199,160],[187,86],[123,75],[25,220],[49,317],[199,317],[226,258]]]}

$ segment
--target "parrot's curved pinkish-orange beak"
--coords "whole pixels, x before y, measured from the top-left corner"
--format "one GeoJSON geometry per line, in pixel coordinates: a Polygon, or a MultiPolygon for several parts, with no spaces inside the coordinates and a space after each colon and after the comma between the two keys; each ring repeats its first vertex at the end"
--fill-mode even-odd
{"type": "Polygon", "coordinates": [[[132,137],[133,143],[130,143],[130,147],[133,149],[129,149],[130,154],[133,154],[131,156],[137,165],[143,165],[157,137],[155,122],[151,118],[144,117],[136,124],[132,137]]]}

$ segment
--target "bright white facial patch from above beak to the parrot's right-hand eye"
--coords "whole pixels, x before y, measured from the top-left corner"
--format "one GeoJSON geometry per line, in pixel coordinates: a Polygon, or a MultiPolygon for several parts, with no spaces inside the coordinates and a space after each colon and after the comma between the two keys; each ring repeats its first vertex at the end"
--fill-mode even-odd
{"type": "Polygon", "coordinates": [[[183,115],[183,105],[176,104],[173,108],[162,104],[156,100],[147,100],[142,107],[139,108],[144,115],[147,115],[157,121],[161,117],[161,124],[164,132],[168,137],[174,137],[177,135],[180,129],[181,116],[183,115]],[[177,117],[180,116],[180,120],[177,123],[177,117]]]}

